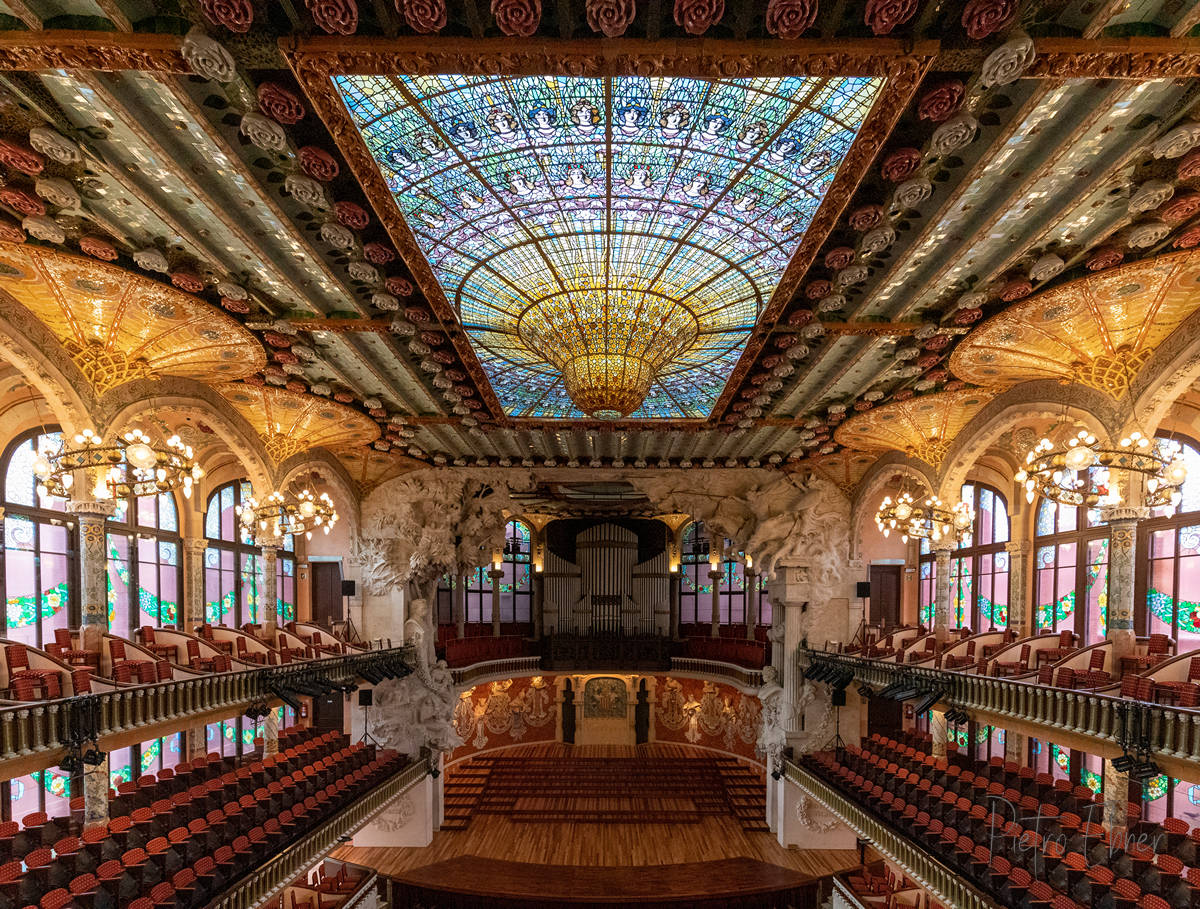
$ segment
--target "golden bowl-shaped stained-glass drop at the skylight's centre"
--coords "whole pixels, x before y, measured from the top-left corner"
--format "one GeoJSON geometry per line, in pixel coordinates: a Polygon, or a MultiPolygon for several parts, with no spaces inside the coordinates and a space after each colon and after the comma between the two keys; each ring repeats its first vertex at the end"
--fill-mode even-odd
{"type": "Polygon", "coordinates": [[[563,375],[566,393],[598,420],[642,405],[671,361],[700,336],[688,307],[652,290],[592,288],[545,297],[521,314],[517,335],[563,375]]]}

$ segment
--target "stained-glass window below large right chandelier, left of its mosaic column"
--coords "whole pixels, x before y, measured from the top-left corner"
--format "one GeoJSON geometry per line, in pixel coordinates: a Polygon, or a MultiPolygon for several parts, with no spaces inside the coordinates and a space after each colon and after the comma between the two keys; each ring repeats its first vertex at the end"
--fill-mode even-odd
{"type": "Polygon", "coordinates": [[[1097,508],[1038,500],[1033,526],[1034,630],[1108,634],[1109,529],[1097,508]]]}

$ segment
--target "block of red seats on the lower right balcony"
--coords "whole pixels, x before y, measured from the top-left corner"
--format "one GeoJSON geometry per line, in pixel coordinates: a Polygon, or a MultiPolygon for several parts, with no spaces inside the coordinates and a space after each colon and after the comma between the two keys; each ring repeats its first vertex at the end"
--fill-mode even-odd
{"type": "Polygon", "coordinates": [[[1200,868],[1183,875],[1200,829],[1189,836],[1175,818],[1147,824],[1130,803],[1129,829],[1109,830],[1081,819],[1098,817],[1102,801],[1084,787],[995,758],[935,759],[925,747],[917,736],[876,734],[804,763],[1004,905],[1200,907],[1200,868]],[[1014,811],[990,813],[996,799],[1014,811]]]}

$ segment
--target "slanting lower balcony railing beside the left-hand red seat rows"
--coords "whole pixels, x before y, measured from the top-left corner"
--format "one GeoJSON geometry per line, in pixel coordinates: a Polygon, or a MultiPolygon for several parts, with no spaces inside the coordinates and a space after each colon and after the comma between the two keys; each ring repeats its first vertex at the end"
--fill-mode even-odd
{"type": "Polygon", "coordinates": [[[424,760],[404,767],[391,779],[331,817],[304,839],[242,878],[223,896],[210,903],[208,909],[251,909],[264,903],[272,893],[290,884],[298,874],[326,855],[338,839],[352,835],[388,802],[420,783],[427,772],[428,767],[424,760]]]}

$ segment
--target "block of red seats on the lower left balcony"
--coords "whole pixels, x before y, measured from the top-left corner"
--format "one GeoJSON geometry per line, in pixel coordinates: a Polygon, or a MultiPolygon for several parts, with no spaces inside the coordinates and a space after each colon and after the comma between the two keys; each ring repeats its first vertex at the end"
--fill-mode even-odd
{"type": "Polygon", "coordinates": [[[236,769],[210,756],[122,784],[113,819],[83,837],[66,836],[66,819],[26,817],[7,837],[16,851],[0,865],[0,909],[198,909],[403,766],[332,732],[287,729],[280,747],[236,769]]]}

